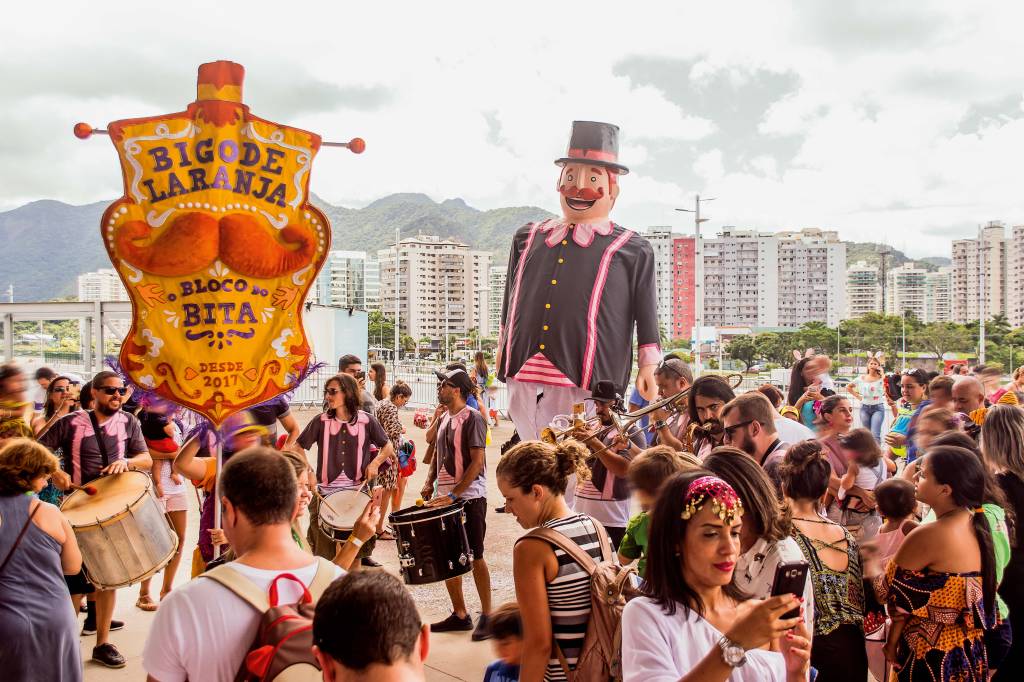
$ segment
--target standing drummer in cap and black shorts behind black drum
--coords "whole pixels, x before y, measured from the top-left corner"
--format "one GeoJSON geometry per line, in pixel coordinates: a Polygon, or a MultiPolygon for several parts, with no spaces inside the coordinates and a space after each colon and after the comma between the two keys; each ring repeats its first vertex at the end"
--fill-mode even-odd
{"type": "Polygon", "coordinates": [[[440,384],[437,399],[446,408],[441,415],[434,440],[434,461],[423,486],[423,497],[428,499],[437,481],[437,494],[427,503],[428,507],[463,503],[466,515],[466,536],[473,552],[473,582],[480,596],[480,620],[473,629],[473,619],[466,610],[462,594],[462,576],[444,581],[452,598],[453,613],[440,623],[430,626],[431,632],[460,632],[473,630],[473,640],[489,637],[487,614],[490,612],[490,572],[483,560],[483,539],[487,531],[487,479],[485,447],[487,424],[479,410],[466,404],[473,393],[473,380],[465,370],[454,369],[435,372],[440,384]]]}

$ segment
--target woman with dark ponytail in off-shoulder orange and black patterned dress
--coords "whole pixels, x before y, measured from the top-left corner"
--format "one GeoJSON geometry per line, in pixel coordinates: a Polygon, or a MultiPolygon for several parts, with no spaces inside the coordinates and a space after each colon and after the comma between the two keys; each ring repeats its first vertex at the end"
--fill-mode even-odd
{"type": "Polygon", "coordinates": [[[952,445],[931,447],[920,472],[918,500],[938,518],[910,531],[876,580],[893,619],[886,658],[899,682],[984,682],[984,634],[998,622],[985,472],[970,451],[952,445]]]}

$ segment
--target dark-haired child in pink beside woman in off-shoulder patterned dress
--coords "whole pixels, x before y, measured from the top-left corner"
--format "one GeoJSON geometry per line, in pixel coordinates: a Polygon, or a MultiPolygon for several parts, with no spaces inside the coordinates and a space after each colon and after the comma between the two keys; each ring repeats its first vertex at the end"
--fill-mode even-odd
{"type": "MultiPolygon", "coordinates": [[[[861,546],[861,552],[865,563],[870,561],[874,566],[865,573],[877,576],[885,572],[889,560],[896,556],[896,551],[906,536],[918,527],[915,517],[918,499],[913,483],[905,478],[890,478],[874,488],[874,500],[885,523],[873,540],[861,546]]],[[[890,624],[886,617],[885,607],[874,598],[871,580],[865,578],[864,583],[864,639],[867,642],[867,667],[876,680],[884,680],[887,679],[884,651],[886,636],[891,630],[895,630],[893,636],[894,641],[897,641],[901,624],[895,628],[890,624]]]]}

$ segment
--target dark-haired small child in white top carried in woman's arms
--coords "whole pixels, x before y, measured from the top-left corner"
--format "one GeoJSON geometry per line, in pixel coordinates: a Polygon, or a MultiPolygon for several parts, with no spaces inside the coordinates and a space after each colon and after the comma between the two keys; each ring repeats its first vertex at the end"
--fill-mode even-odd
{"type": "Polygon", "coordinates": [[[877,509],[864,510],[864,501],[848,496],[848,492],[857,486],[872,493],[879,483],[896,471],[896,463],[882,457],[882,449],[865,428],[841,435],[839,443],[847,461],[846,474],[840,480],[836,496],[843,504],[843,525],[859,541],[870,540],[882,525],[879,512],[877,509]],[[859,504],[855,505],[854,500],[859,500],[859,504]],[[860,509],[855,509],[855,506],[860,509]]]}

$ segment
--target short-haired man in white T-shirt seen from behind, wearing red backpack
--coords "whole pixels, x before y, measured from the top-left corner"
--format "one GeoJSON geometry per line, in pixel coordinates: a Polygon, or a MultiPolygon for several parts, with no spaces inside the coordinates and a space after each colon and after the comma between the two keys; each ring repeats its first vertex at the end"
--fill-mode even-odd
{"type": "MultiPolygon", "coordinates": [[[[281,573],[312,584],[318,570],[344,571],[304,552],[292,539],[298,483],[288,460],[268,447],[231,457],[220,477],[224,534],[238,558],[228,564],[266,593],[281,573]]],[[[299,586],[278,583],[280,603],[299,600],[299,586]]],[[[262,613],[214,580],[199,578],[160,604],[142,651],[148,680],[231,680],[256,637],[262,613]]]]}

